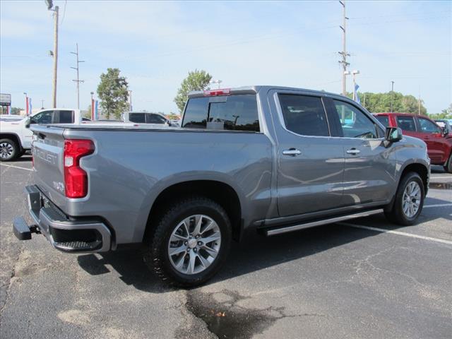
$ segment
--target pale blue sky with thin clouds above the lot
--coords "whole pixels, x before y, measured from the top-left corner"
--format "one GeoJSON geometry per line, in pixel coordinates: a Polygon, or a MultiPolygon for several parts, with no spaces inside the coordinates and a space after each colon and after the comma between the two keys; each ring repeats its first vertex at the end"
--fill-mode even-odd
{"type": "MultiPolygon", "coordinates": [[[[57,105],[81,108],[100,73],[121,69],[133,109],[177,112],[179,84],[204,69],[222,87],[289,85],[341,91],[338,1],[54,1],[60,8],[57,105]]],[[[360,90],[394,90],[424,100],[429,113],[452,102],[451,1],[347,1],[350,69],[360,90]]],[[[0,88],[12,105],[49,107],[52,12],[43,0],[0,1],[0,88]]],[[[351,78],[347,90],[352,90],[351,78]]]]}

